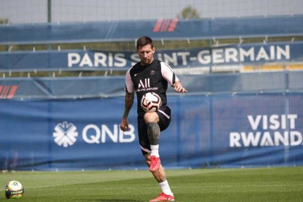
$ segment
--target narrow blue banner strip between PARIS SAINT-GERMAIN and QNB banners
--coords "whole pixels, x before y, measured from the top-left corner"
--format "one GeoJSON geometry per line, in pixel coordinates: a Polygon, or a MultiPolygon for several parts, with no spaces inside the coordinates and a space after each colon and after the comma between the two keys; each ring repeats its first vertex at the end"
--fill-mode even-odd
{"type": "MultiPolygon", "coordinates": [[[[180,75],[189,94],[303,92],[303,72],[180,75]]],[[[0,78],[0,98],[76,99],[124,96],[125,77],[0,78]]],[[[169,95],[174,95],[172,88],[169,95]]]]}

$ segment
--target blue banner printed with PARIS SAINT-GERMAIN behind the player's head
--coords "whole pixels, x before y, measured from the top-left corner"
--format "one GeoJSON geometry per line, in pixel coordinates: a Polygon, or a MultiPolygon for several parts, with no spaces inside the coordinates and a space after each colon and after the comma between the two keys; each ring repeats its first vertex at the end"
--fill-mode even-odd
{"type": "MultiPolygon", "coordinates": [[[[233,44],[213,48],[157,50],[155,57],[173,68],[302,62],[303,42],[233,44]]],[[[36,51],[0,53],[0,71],[127,70],[139,62],[134,52],[36,51]]]]}

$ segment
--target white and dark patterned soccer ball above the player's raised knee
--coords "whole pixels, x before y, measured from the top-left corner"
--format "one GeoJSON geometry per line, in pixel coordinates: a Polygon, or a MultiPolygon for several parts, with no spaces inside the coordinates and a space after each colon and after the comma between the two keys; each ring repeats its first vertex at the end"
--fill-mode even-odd
{"type": "Polygon", "coordinates": [[[141,108],[145,112],[156,112],[162,104],[161,97],[155,92],[147,92],[141,98],[141,108]]]}

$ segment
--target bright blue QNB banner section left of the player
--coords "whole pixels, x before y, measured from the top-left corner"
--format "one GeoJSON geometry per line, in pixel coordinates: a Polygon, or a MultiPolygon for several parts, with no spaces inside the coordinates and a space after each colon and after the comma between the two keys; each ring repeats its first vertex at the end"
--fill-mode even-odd
{"type": "Polygon", "coordinates": [[[122,106],[122,98],[2,100],[0,169],[135,169],[142,159],[134,126],[119,129],[122,106]]]}

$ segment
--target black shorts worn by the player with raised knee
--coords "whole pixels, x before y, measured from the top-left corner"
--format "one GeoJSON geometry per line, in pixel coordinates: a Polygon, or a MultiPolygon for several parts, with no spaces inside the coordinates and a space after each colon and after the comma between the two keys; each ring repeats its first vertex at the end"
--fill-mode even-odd
{"type": "MultiPolygon", "coordinates": [[[[159,116],[159,127],[160,131],[165,130],[171,122],[171,110],[169,107],[161,108],[156,112],[159,116]]],[[[139,135],[139,144],[143,156],[150,153],[150,143],[147,136],[147,126],[144,121],[144,113],[138,115],[138,135],[139,135]]]]}

